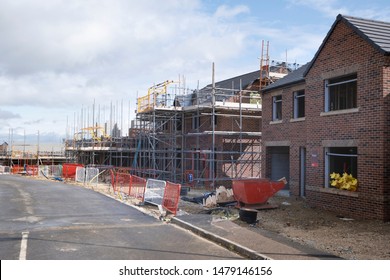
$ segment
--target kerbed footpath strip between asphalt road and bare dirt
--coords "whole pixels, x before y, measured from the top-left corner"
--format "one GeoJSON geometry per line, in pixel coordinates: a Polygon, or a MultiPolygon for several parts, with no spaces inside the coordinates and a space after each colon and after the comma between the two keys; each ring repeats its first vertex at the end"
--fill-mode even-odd
{"type": "Polygon", "coordinates": [[[231,220],[207,214],[189,214],[172,218],[172,223],[250,259],[329,260],[337,256],[303,246],[265,230],[251,230],[231,220]]]}

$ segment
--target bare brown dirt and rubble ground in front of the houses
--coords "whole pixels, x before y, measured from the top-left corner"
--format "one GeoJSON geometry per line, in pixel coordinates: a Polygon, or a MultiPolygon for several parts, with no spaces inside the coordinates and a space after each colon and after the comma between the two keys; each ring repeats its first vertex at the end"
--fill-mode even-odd
{"type": "MultiPolygon", "coordinates": [[[[93,189],[126,200],[113,194],[109,186],[93,189]]],[[[205,192],[207,191],[191,190],[186,197],[199,197],[205,192]]],[[[212,208],[205,208],[182,199],[179,202],[178,215],[187,213],[219,215],[233,220],[242,227],[254,231],[268,230],[343,259],[390,260],[390,222],[351,219],[338,213],[310,207],[302,198],[273,196],[268,202],[277,207],[260,210],[257,221],[253,224],[240,220],[239,210],[233,206],[216,207],[213,211],[212,208]]],[[[145,208],[145,211],[150,210],[145,208]]],[[[158,216],[159,212],[154,210],[154,215],[158,216]]]]}

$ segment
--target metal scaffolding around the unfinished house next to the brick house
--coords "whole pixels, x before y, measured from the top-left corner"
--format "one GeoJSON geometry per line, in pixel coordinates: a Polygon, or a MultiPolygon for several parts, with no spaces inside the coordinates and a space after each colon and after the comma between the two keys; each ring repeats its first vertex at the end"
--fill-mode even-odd
{"type": "MultiPolygon", "coordinates": [[[[156,100],[153,95],[149,92],[148,99],[156,100]]],[[[234,84],[219,88],[213,82],[190,94],[158,95],[164,105],[148,104],[136,115],[132,167],[137,175],[210,187],[260,177],[261,98],[256,90],[234,84]]]]}

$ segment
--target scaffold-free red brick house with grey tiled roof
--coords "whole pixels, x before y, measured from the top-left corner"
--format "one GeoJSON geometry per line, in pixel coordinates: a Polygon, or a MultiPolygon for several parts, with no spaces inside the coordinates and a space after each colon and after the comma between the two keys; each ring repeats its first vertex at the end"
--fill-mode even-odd
{"type": "Polygon", "coordinates": [[[262,176],[345,216],[390,220],[390,23],[338,15],[313,60],[262,92],[262,176]],[[331,186],[331,173],[358,180],[331,186]]]}

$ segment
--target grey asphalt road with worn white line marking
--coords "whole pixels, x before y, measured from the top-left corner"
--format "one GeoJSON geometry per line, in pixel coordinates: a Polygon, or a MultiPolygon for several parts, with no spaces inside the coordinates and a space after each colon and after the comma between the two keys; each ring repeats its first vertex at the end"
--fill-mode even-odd
{"type": "Polygon", "coordinates": [[[100,193],[0,175],[0,259],[166,260],[240,256],[100,193]]]}

